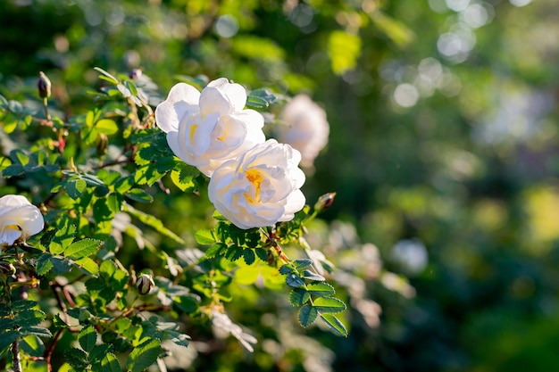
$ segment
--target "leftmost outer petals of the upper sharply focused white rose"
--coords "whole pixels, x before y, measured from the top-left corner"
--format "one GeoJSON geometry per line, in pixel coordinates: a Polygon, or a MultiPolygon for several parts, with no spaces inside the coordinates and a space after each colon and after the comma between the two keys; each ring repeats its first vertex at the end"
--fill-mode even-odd
{"type": "Polygon", "coordinates": [[[188,113],[198,111],[200,92],[195,87],[179,83],[171,88],[167,99],[155,108],[155,123],[163,132],[178,130],[179,122],[188,113]]]}

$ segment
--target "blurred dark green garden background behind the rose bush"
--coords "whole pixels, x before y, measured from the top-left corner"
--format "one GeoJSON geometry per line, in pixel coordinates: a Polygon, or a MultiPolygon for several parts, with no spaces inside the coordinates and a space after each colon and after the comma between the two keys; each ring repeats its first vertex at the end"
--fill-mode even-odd
{"type": "MultiPolygon", "coordinates": [[[[302,331],[288,305],[239,291],[229,310],[254,354],[193,334],[177,370],[555,370],[555,0],[0,0],[0,25],[0,94],[37,100],[44,70],[68,116],[90,104],[96,66],[140,68],[162,97],[178,75],[223,76],[328,113],[304,192],[338,193],[310,240],[352,274],[338,277],[351,335],[302,331]],[[412,287],[356,263],[377,248],[412,287]]],[[[153,208],[188,234],[204,225],[196,203],[153,208]]]]}

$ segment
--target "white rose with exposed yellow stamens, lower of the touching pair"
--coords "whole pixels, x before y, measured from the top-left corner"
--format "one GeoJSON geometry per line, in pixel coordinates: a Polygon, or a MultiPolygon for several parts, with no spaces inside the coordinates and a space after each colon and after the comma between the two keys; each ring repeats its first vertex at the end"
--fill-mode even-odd
{"type": "Polygon", "coordinates": [[[224,162],[210,179],[208,194],[215,209],[240,228],[272,226],[293,219],[305,205],[299,190],[305,173],[301,154],[269,139],[237,160],[224,162]]]}

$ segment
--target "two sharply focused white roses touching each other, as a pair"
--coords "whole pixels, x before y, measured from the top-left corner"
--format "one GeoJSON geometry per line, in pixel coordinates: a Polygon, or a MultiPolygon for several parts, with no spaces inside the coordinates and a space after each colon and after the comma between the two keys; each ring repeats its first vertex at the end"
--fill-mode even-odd
{"type": "Polygon", "coordinates": [[[202,92],[179,83],[155,109],[172,152],[210,178],[210,201],[243,229],[288,221],[305,206],[301,153],[266,141],[263,116],[245,109],[246,98],[244,87],[225,78],[202,92]]]}

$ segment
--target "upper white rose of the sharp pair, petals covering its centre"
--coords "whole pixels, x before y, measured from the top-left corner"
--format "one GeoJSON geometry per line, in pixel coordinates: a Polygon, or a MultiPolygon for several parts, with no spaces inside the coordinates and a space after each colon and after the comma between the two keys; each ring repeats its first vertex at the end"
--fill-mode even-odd
{"type": "Polygon", "coordinates": [[[266,140],[263,116],[245,105],[245,88],[228,79],[213,80],[201,94],[179,83],[155,109],[155,121],[175,155],[212,177],[221,163],[266,140]]]}

